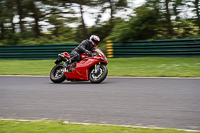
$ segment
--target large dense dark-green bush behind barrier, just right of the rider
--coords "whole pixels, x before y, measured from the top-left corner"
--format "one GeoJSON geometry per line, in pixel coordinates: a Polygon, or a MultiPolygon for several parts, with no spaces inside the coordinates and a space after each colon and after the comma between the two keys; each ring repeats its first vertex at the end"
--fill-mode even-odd
{"type": "Polygon", "coordinates": [[[155,30],[160,18],[157,11],[143,5],[135,9],[136,16],[129,21],[118,20],[112,34],[107,39],[115,41],[146,40],[157,34],[155,30]]]}

